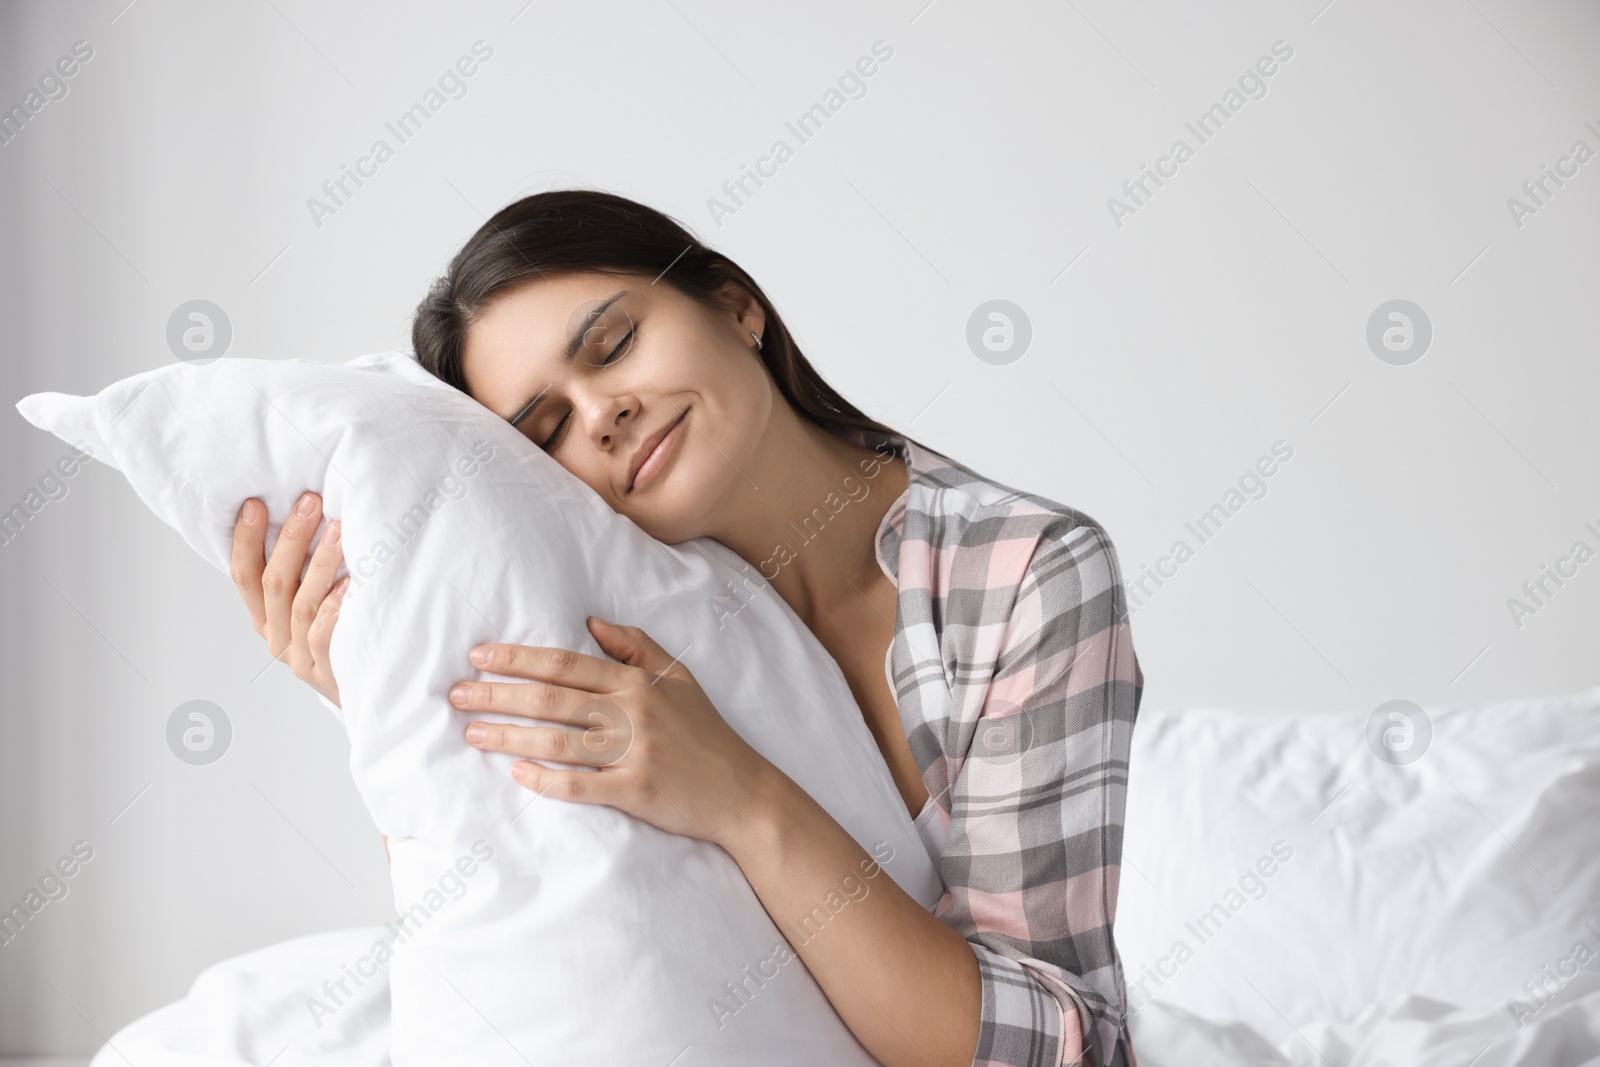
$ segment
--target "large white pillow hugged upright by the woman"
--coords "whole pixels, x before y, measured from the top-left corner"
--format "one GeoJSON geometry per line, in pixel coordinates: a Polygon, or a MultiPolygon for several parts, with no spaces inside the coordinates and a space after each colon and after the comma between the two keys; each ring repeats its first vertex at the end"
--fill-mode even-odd
{"type": "MultiPolygon", "coordinates": [[[[494,677],[472,645],[602,656],[586,614],[640,625],[931,907],[938,873],[843,675],[731,550],[646,536],[406,352],[178,363],[18,410],[88,442],[219,569],[246,496],[282,518],[315,490],[342,522],[355,577],[331,659],[350,771],[389,835],[395,909],[418,917],[389,963],[397,1065],[874,1062],[725,851],[536,798],[512,757],[466,744],[445,696],[494,677]],[[474,873],[450,899],[458,864],[474,873]]],[[[824,915],[872,883],[851,885],[824,915]]]]}

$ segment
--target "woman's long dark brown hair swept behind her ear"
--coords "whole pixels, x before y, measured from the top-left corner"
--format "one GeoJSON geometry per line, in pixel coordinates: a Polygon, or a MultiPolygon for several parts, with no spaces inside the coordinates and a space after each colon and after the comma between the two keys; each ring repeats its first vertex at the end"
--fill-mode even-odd
{"type": "Polygon", "coordinates": [[[416,309],[411,347],[418,362],[467,392],[461,347],[467,326],[488,302],[534,277],[581,270],[650,275],[712,310],[726,310],[718,294],[730,283],[742,285],[766,314],[762,363],[802,418],[835,432],[906,437],[862,414],[822,381],[789,336],[778,309],[739,264],[702,245],[670,216],[589,189],[523,197],[478,227],[416,309]]]}

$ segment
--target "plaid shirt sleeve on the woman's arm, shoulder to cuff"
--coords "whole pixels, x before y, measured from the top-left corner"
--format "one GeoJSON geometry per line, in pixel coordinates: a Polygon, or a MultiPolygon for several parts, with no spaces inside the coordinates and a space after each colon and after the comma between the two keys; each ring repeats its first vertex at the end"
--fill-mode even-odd
{"type": "Polygon", "coordinates": [[[1112,920],[1144,677],[1104,530],[1040,539],[1000,617],[952,784],[939,910],[978,957],[973,1065],[1106,1067],[1123,1019],[1112,920]]]}

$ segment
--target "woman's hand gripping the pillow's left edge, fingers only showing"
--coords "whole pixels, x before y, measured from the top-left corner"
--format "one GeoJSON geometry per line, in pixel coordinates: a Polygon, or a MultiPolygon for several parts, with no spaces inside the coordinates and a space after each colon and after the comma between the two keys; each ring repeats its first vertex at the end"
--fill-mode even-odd
{"type": "Polygon", "coordinates": [[[229,574],[245,598],[256,633],[267,638],[267,651],[283,659],[294,677],[322,696],[339,704],[339,685],[328,664],[328,643],[339,617],[349,574],[333,584],[344,560],[339,547],[339,523],[328,523],[310,557],[306,581],[301,566],[306,550],[322,523],[322,498],[306,493],[294,512],[283,520],[283,530],[266,558],[267,509],[256,498],[245,501],[234,525],[234,557],[229,574]]]}

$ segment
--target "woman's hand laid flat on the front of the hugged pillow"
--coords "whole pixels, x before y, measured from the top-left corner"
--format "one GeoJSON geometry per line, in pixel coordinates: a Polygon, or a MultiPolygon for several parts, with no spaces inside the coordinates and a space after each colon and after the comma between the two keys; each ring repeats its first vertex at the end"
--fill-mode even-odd
{"type": "Polygon", "coordinates": [[[610,805],[670,833],[725,845],[776,768],[712,705],[688,667],[637,627],[589,619],[613,659],[565,648],[478,645],[472,662],[534,681],[462,681],[450,702],[566,726],[470,723],[475,749],[526,757],[512,776],[536,793],[610,805]],[[619,662],[613,662],[619,661],[619,662]],[[531,760],[589,765],[557,771],[531,760]]]}

